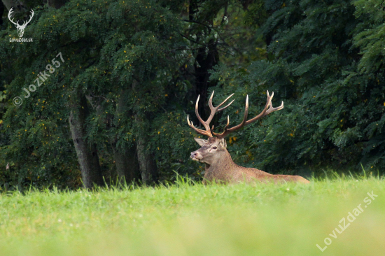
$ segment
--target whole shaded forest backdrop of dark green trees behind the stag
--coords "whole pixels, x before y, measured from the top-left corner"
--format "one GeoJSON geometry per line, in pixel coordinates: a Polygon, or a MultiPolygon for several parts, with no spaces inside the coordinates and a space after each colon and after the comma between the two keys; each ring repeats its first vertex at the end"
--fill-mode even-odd
{"type": "Polygon", "coordinates": [[[198,95],[207,117],[214,90],[214,104],[235,93],[219,131],[228,115],[241,121],[246,94],[249,116],[266,90],[285,104],[231,134],[237,164],[384,173],[383,1],[3,0],[0,14],[3,189],[200,180],[186,117],[198,124],[198,95]],[[34,10],[23,36],[33,42],[10,42],[12,7],[20,24],[34,10]]]}

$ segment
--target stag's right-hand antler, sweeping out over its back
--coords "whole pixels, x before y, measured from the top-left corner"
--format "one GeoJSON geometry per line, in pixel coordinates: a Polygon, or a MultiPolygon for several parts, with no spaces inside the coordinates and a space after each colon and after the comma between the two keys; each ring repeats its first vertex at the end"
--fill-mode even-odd
{"type": "Polygon", "coordinates": [[[224,138],[225,136],[230,134],[232,131],[237,131],[241,127],[244,127],[245,125],[250,125],[251,123],[255,122],[256,120],[263,118],[266,115],[269,115],[269,113],[273,113],[274,111],[281,110],[283,108],[283,101],[282,101],[281,106],[273,108],[273,106],[272,106],[273,97],[274,97],[274,92],[272,92],[272,96],[270,96],[269,91],[267,91],[267,101],[266,101],[265,108],[263,108],[263,111],[259,115],[255,116],[254,118],[251,118],[251,120],[247,120],[247,114],[248,114],[248,95],[247,95],[246,96],[246,106],[244,109],[244,120],[239,125],[236,125],[235,127],[228,128],[229,123],[230,123],[230,120],[228,117],[228,124],[225,126],[225,131],[223,131],[223,133],[221,133],[221,134],[216,134],[215,132],[213,132],[213,134],[215,136],[217,136],[218,138],[224,138]]]}

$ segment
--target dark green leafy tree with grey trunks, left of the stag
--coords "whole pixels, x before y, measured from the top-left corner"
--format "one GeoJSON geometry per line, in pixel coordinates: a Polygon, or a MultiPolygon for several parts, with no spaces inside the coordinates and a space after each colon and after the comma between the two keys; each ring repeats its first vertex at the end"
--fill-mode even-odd
{"type": "MultiPolygon", "coordinates": [[[[1,157],[19,173],[13,183],[40,176],[45,184],[57,183],[52,173],[58,174],[59,166],[68,171],[76,158],[85,187],[111,176],[111,164],[104,167],[104,161],[115,161],[127,181],[137,177],[139,162],[142,181],[156,180],[148,123],[165,103],[162,91],[179,63],[169,51],[179,21],[155,1],[69,1],[57,10],[36,6],[35,16],[26,31],[34,35],[33,43],[0,45],[7,93],[24,99],[19,107],[8,101],[3,116],[7,139],[1,157]],[[25,99],[22,88],[40,71],[48,79],[25,99]]],[[[11,26],[1,38],[9,35],[16,36],[11,26]]]]}

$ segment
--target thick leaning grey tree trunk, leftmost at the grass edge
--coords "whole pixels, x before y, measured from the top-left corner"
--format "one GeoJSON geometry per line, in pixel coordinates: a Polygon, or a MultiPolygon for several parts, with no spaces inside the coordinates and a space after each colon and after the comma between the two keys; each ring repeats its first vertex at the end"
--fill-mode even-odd
{"type": "Polygon", "coordinates": [[[83,185],[86,188],[92,188],[94,185],[104,185],[104,183],[96,144],[87,145],[87,142],[83,140],[85,136],[85,119],[88,115],[87,101],[82,95],[80,97],[80,106],[74,108],[69,115],[69,126],[73,145],[75,145],[76,155],[78,156],[83,185]]]}

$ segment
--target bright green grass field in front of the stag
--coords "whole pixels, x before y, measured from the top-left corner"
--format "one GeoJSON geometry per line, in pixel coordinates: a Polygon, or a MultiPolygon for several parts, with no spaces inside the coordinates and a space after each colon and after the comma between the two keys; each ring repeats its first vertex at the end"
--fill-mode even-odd
{"type": "Polygon", "coordinates": [[[0,194],[1,256],[385,255],[384,230],[379,178],[0,194]]]}

